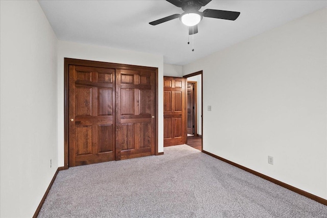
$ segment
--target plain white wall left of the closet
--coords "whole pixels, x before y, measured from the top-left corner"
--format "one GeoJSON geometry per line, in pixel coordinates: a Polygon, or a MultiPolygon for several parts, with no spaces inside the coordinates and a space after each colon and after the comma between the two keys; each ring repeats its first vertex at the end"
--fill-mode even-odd
{"type": "Polygon", "coordinates": [[[32,217],[58,167],[57,38],[38,2],[0,4],[0,216],[32,217]]]}

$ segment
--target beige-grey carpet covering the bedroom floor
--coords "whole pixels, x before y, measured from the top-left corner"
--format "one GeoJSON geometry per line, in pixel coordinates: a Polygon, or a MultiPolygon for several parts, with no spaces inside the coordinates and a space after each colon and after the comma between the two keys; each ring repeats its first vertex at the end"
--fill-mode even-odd
{"type": "Polygon", "coordinates": [[[41,217],[327,217],[327,206],[189,146],[60,171],[41,217]]]}

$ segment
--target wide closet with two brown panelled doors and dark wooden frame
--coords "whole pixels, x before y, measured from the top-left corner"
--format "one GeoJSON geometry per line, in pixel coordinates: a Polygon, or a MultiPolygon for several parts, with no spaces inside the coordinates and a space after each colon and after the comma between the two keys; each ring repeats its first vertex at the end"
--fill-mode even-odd
{"type": "Polygon", "coordinates": [[[64,59],[64,163],[157,152],[155,67],[64,59]]]}

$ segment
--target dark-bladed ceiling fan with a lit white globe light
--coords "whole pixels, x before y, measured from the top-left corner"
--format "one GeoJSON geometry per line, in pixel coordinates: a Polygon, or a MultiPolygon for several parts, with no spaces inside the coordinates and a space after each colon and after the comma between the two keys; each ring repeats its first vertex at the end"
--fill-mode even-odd
{"type": "Polygon", "coordinates": [[[212,0],[166,0],[176,7],[181,8],[184,13],[173,14],[168,17],[164,17],[152,22],[150,25],[158,25],[163,22],[167,22],[172,19],[179,18],[184,25],[189,26],[189,35],[198,33],[198,23],[203,17],[212,17],[225,20],[236,20],[240,15],[240,12],[236,11],[222,11],[215,9],[205,9],[200,12],[200,8],[206,6],[212,0]],[[192,27],[192,28],[191,28],[192,27]]]}

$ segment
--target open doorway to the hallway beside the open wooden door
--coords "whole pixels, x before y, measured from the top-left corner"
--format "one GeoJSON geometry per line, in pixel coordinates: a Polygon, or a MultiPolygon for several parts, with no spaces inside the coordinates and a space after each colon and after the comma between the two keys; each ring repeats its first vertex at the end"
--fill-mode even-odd
{"type": "Polygon", "coordinates": [[[203,150],[203,71],[194,72],[185,75],[187,81],[187,108],[186,108],[186,144],[189,146],[203,150]]]}

